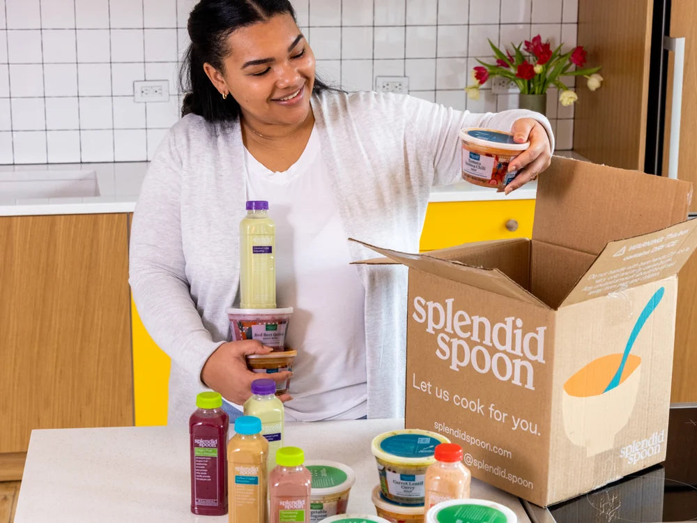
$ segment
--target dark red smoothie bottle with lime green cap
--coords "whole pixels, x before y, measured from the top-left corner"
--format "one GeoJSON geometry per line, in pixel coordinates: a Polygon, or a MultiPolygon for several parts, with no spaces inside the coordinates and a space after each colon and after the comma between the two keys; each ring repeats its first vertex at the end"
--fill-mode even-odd
{"type": "Polygon", "coordinates": [[[191,511],[204,516],[227,514],[227,430],[220,393],[196,396],[189,418],[191,511]]]}

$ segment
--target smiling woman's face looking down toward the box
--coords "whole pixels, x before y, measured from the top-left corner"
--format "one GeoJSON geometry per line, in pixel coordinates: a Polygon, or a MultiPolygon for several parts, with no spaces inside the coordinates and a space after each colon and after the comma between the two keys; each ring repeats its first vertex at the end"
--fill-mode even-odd
{"type": "MultiPolygon", "coordinates": [[[[307,119],[314,54],[289,14],[233,31],[221,71],[253,128],[297,126],[307,119]]],[[[215,83],[215,82],[214,82],[215,83]]]]}

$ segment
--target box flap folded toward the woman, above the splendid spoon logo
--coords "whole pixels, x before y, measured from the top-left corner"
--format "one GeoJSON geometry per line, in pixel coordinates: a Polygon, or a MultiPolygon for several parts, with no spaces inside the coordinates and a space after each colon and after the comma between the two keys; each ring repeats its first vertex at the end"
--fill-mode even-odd
{"type": "MultiPolygon", "coordinates": [[[[457,260],[441,259],[440,257],[437,258],[426,254],[409,254],[408,252],[399,252],[397,250],[376,247],[375,245],[370,245],[369,243],[364,243],[354,238],[348,239],[365,245],[365,247],[379,252],[381,255],[397,263],[406,265],[409,268],[414,268],[418,271],[446,278],[447,280],[464,283],[465,285],[470,285],[477,289],[490,291],[500,296],[507,296],[508,298],[523,301],[524,303],[530,303],[531,305],[549,309],[549,305],[540,301],[539,298],[530,294],[530,292],[523,289],[523,287],[496,268],[473,267],[457,260]]],[[[473,248],[477,249],[481,248],[481,246],[482,243],[477,243],[473,245],[473,248]]],[[[459,245],[457,247],[457,249],[461,251],[465,251],[467,248],[467,245],[459,245]]],[[[376,264],[379,262],[375,259],[371,259],[358,261],[356,263],[376,264]]]]}

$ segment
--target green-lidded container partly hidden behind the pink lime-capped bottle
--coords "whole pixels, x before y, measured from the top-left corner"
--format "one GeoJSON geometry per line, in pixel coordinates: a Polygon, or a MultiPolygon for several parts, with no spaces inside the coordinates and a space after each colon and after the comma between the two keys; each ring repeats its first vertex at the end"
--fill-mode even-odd
{"type": "Polygon", "coordinates": [[[312,473],[309,520],[319,523],[329,516],[346,514],[348,493],[355,483],[353,469],[335,461],[306,461],[312,473]]]}

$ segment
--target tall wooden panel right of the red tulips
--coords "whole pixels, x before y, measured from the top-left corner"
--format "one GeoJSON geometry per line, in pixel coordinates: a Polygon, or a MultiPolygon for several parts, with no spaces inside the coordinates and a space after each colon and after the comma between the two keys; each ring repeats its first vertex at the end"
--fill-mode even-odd
{"type": "Polygon", "coordinates": [[[643,169],[653,0],[579,2],[577,41],[605,81],[576,81],[574,151],[595,163],[643,169]]]}

